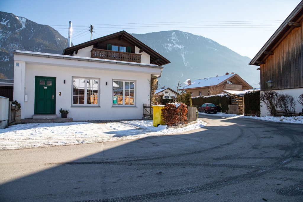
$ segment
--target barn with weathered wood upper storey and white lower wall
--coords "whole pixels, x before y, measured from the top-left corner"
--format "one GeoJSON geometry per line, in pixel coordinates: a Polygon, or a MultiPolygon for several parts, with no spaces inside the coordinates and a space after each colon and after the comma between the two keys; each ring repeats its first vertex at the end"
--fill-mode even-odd
{"type": "MultiPolygon", "coordinates": [[[[277,91],[295,99],[303,93],[303,1],[291,12],[249,65],[260,66],[262,91],[277,91]]],[[[261,116],[268,115],[260,103],[261,116]]],[[[297,103],[295,111],[302,106],[297,103]]]]}

